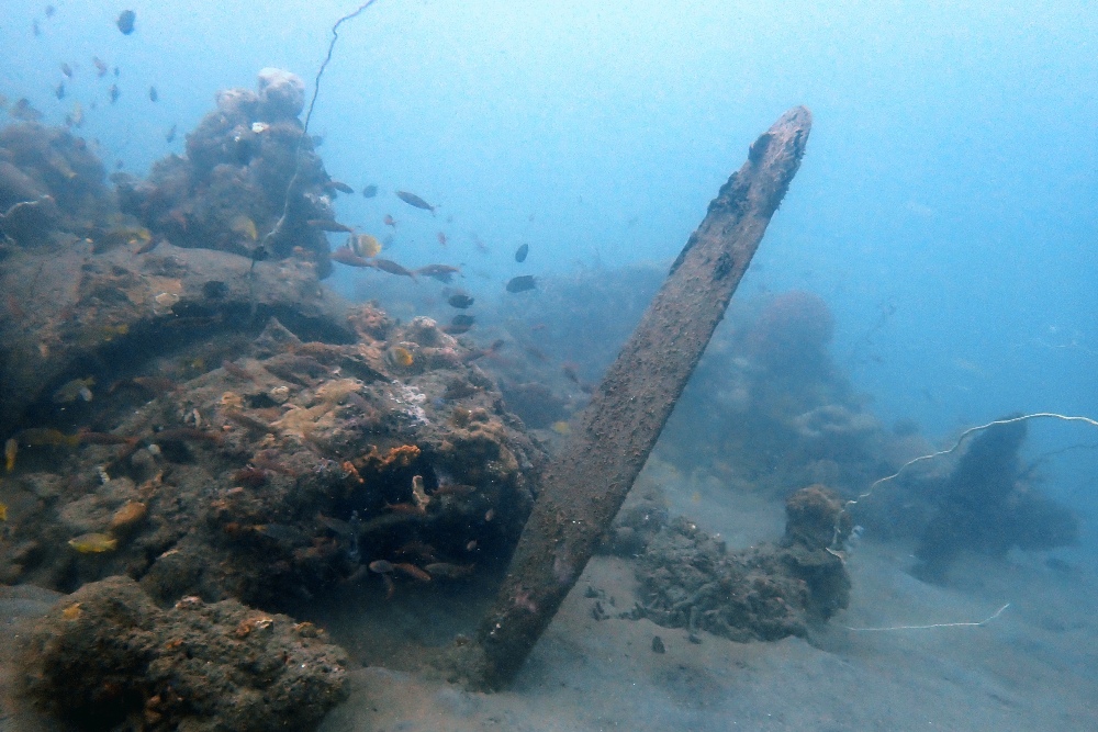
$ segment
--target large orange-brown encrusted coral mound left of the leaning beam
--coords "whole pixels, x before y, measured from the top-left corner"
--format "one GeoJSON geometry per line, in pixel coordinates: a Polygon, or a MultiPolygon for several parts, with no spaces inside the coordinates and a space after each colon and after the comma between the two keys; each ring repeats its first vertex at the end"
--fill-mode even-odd
{"type": "Polygon", "coordinates": [[[272,319],[198,378],[115,382],[103,401],[137,407],[110,432],[19,432],[36,470],[5,486],[0,578],[70,592],[126,574],[159,601],[273,609],[505,560],[544,452],[482,351],[371,306],[348,327],[358,342],[302,342],[272,319]]]}

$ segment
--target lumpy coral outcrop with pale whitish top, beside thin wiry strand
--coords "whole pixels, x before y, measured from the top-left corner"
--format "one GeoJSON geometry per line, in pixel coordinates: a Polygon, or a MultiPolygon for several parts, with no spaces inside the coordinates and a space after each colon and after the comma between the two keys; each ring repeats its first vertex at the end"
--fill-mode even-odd
{"type": "Polygon", "coordinates": [[[257,87],[220,92],[217,111],[187,136],[187,157],[158,161],[146,180],[116,176],[120,204],[176,246],[246,256],[284,212],[279,236],[264,241],[267,254],[305,259],[325,277],[327,240],[309,222],[335,217],[333,192],[298,120],[304,83],[267,68],[257,87]]]}

